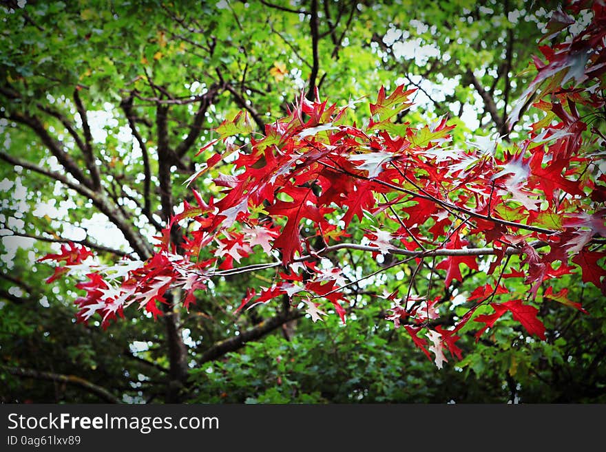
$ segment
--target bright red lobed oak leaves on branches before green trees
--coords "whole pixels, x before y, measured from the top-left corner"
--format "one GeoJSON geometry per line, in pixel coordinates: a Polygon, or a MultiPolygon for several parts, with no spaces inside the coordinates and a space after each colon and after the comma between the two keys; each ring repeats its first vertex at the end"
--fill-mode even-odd
{"type": "Polygon", "coordinates": [[[84,262],[89,251],[72,244],[43,258],[61,265],[48,282],[84,271],[78,317],[98,314],[107,326],[133,304],[162,314],[167,290],[180,288],[189,308],[213,279],[268,269],[272,283],[251,288],[238,310],[287,299],[313,321],[333,310],[345,323],[359,299],[352,286],[372,279],[366,302],[384,305],[384,319],[437,367],[448,355],[461,358],[463,332],[479,339],[503,316],[545,339],[541,303],[586,312],[552,281],[578,273],[606,294],[606,138],[592,127],[605,107],[606,7],[586,3],[570,10],[593,14],[572,36],[565,32],[572,15],[552,15],[507,135],[453,142],[446,117],[411,125],[404,120],[415,90],[404,86],[347,105],[302,95],[264,134],[241,113],[200,149],[206,163],[188,181],[194,186],[220,169],[213,178],[220,195],[202,199],[194,190],[194,202],[184,202],[157,237],[153,257],[95,266],[84,262]],[[352,122],[350,111],[363,108],[368,118],[352,122]],[[514,133],[529,108],[539,119],[514,133]],[[376,259],[378,269],[359,275],[348,250],[376,259]],[[265,259],[249,263],[252,255],[265,259]],[[411,269],[408,283],[384,290],[375,277],[399,266],[411,269]],[[468,310],[452,316],[446,289],[459,287],[463,272],[485,278],[460,292],[468,310]],[[416,278],[428,281],[422,293],[416,278]],[[512,279],[525,290],[512,289],[512,279]]]}

